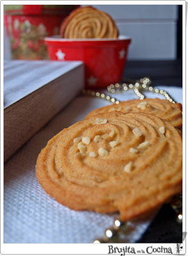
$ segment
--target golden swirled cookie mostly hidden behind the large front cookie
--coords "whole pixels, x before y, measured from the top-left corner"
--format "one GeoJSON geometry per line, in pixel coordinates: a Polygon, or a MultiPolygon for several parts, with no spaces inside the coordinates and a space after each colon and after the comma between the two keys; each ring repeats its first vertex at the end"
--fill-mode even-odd
{"type": "Polygon", "coordinates": [[[168,100],[161,100],[158,98],[121,101],[118,105],[112,104],[94,109],[88,113],[84,119],[91,118],[91,116],[97,115],[98,113],[107,113],[112,111],[121,111],[123,113],[150,113],[170,122],[176,128],[180,129],[182,127],[182,104],[172,103],[168,100]]]}

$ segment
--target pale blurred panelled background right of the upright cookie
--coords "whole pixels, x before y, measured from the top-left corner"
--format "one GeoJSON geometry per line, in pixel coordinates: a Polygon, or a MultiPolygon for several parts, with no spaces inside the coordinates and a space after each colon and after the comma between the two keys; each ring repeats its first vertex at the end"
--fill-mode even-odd
{"type": "Polygon", "coordinates": [[[94,4],[92,6],[109,13],[115,20],[120,34],[132,38],[128,60],[175,60],[178,19],[176,5],[94,4]]]}

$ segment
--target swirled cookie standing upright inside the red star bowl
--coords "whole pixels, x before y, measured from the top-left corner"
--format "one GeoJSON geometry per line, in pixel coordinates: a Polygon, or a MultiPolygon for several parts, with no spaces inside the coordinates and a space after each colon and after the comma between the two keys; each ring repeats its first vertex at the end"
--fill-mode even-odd
{"type": "Polygon", "coordinates": [[[117,38],[114,20],[91,6],[80,7],[68,15],[60,27],[61,38],[117,38]]]}

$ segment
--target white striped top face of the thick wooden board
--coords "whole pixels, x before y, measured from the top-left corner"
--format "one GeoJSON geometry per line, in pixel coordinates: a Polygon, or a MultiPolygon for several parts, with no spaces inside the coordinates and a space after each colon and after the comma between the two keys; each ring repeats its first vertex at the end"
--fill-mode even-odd
{"type": "Polygon", "coordinates": [[[81,61],[4,61],[4,108],[79,65],[81,61]]]}

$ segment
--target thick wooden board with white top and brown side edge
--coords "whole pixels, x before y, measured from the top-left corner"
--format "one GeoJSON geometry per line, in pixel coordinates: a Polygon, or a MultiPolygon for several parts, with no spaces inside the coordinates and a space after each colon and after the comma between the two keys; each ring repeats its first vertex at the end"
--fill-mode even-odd
{"type": "Polygon", "coordinates": [[[81,61],[4,63],[4,161],[84,88],[81,61]]]}

